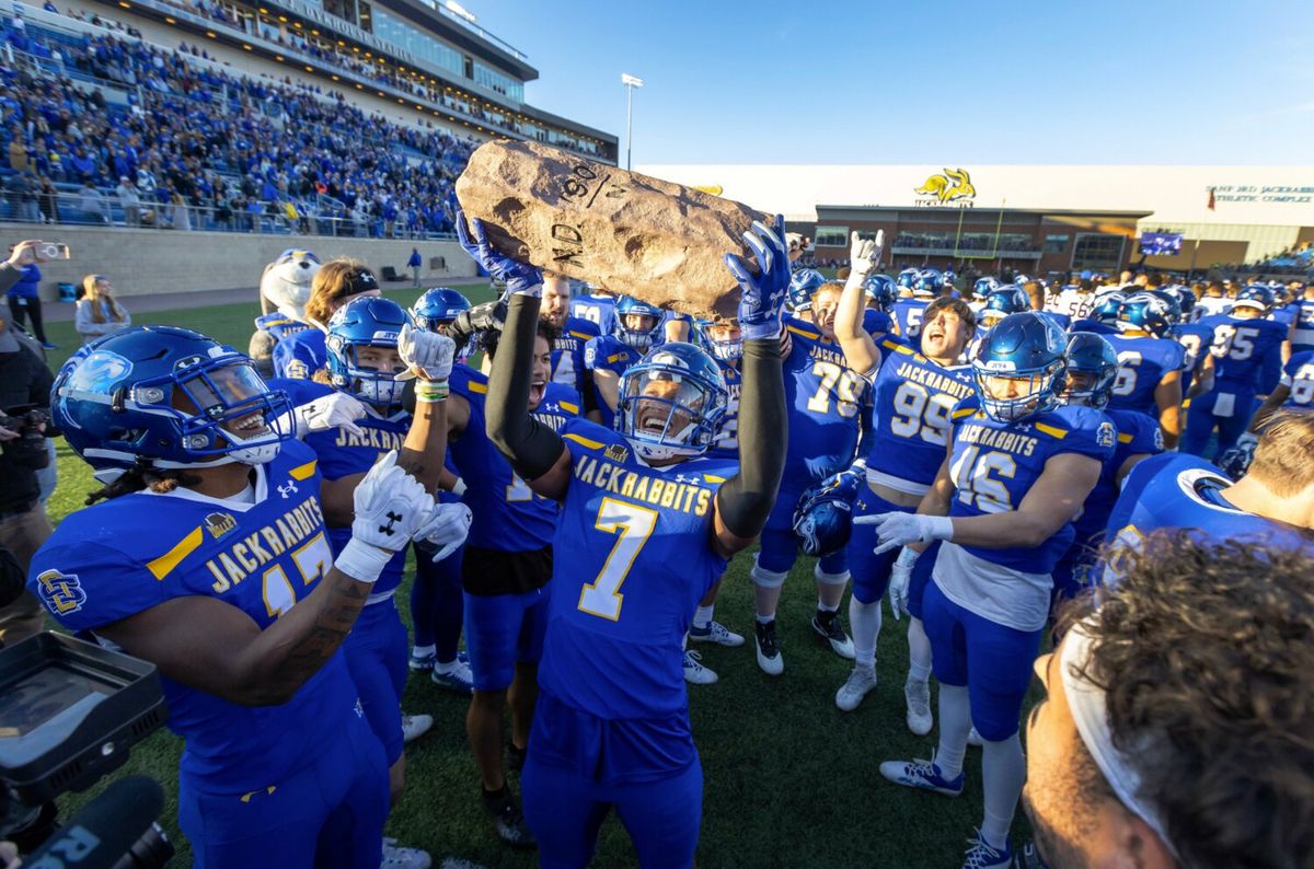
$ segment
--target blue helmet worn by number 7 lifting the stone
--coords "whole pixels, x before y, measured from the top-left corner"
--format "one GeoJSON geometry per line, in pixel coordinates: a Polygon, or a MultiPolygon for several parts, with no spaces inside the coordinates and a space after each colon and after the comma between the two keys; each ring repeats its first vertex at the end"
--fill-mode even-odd
{"type": "Polygon", "coordinates": [[[716,441],[729,403],[716,361],[668,341],[620,375],[616,431],[645,459],[702,456],[716,441]]]}

